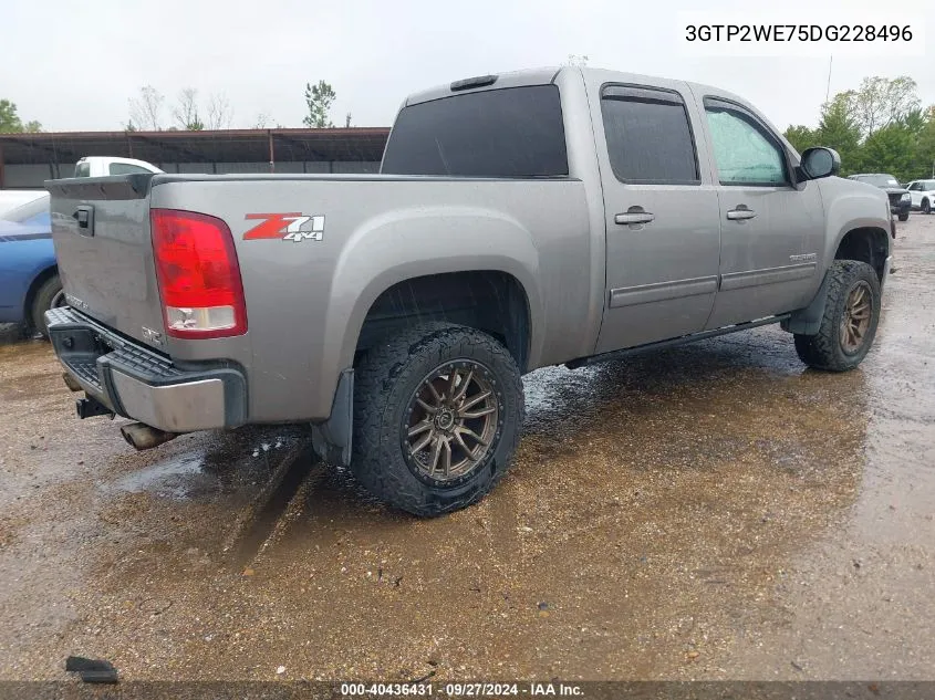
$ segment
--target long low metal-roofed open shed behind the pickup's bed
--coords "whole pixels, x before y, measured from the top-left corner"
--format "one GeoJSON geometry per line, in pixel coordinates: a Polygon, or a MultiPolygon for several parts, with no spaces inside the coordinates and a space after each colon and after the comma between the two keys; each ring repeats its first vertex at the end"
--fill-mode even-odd
{"type": "Polygon", "coordinates": [[[138,158],[166,173],[375,173],[386,127],[0,134],[0,189],[71,177],[84,156],[138,158]]]}

